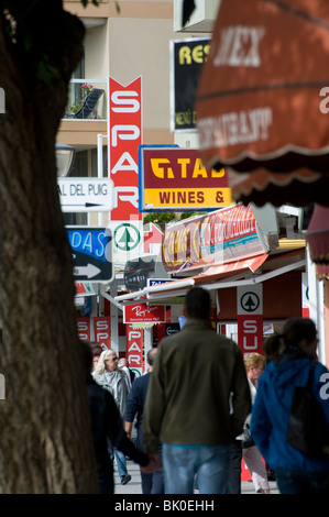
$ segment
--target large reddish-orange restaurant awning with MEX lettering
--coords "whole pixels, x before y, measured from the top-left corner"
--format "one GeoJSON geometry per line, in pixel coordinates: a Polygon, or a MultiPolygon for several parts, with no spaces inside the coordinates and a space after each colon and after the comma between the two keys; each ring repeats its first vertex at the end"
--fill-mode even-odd
{"type": "Polygon", "coordinates": [[[221,0],[196,110],[204,164],[242,176],[235,200],[329,206],[328,63],[328,0],[221,0]]]}

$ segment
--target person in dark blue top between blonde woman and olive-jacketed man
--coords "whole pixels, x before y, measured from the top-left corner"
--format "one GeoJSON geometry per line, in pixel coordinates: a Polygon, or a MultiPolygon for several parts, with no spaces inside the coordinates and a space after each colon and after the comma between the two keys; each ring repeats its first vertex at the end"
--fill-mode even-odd
{"type": "MultiPolygon", "coordinates": [[[[127,436],[130,438],[132,433],[132,426],[134,419],[136,419],[135,427],[138,431],[136,436],[136,447],[140,450],[144,450],[143,441],[143,410],[145,405],[145,398],[147,394],[149,383],[151,378],[151,372],[153,370],[153,362],[157,348],[149,350],[146,359],[149,363],[149,371],[145,375],[135,378],[132,383],[132,388],[128,395],[128,402],[125,407],[125,422],[124,429],[127,436]]],[[[163,484],[163,472],[162,470],[155,470],[151,474],[145,474],[143,469],[141,469],[141,482],[142,482],[142,492],[143,494],[163,494],[164,484],[163,484]]]]}

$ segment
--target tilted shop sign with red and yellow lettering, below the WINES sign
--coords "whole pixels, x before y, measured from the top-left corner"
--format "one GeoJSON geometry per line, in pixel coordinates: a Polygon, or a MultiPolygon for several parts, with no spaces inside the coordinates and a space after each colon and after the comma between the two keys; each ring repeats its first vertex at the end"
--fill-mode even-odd
{"type": "Polygon", "coordinates": [[[169,227],[162,261],[167,272],[180,272],[235,262],[268,249],[252,208],[237,205],[169,227]]]}

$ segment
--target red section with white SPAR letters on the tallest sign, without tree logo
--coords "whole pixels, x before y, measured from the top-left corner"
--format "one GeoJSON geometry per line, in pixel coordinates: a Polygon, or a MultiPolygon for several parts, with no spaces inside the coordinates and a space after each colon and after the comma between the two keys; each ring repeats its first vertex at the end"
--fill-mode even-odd
{"type": "Polygon", "coordinates": [[[114,184],[111,221],[141,220],[139,145],[142,143],[142,78],[122,86],[109,77],[108,162],[114,184]]]}

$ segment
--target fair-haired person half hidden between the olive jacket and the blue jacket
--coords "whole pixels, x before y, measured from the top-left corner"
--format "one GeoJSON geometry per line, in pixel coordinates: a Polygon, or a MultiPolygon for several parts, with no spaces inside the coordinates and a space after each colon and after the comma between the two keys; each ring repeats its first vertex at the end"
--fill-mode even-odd
{"type": "MultiPolygon", "coordinates": [[[[253,352],[244,354],[243,361],[250,387],[251,404],[253,405],[256,396],[257,382],[260,376],[264,372],[265,358],[262,354],[253,352]]],[[[251,414],[246,417],[244,427],[250,428],[250,421],[251,414]]],[[[242,458],[251,474],[255,492],[257,494],[270,494],[270,485],[267,481],[265,463],[262,460],[262,455],[256,446],[252,444],[251,447],[244,448],[242,442],[242,458]]]]}

